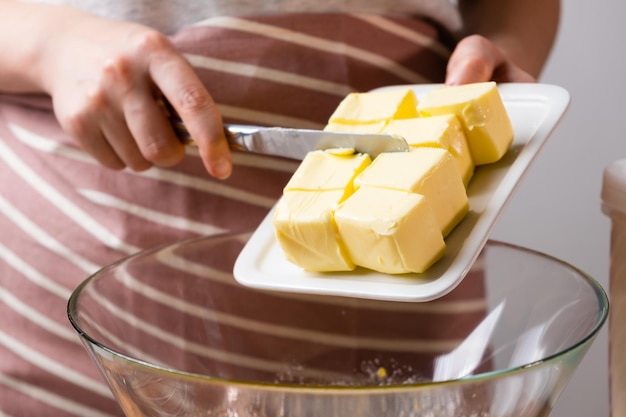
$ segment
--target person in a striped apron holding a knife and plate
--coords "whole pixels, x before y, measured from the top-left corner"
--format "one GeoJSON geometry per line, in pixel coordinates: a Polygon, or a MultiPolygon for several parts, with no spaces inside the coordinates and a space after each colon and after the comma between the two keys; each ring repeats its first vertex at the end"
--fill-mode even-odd
{"type": "Polygon", "coordinates": [[[223,121],[320,128],[349,91],[532,82],[559,16],[557,0],[43,3],[0,0],[7,415],[119,415],[67,297],[143,248],[254,230],[295,163],[231,154],[223,121]]]}

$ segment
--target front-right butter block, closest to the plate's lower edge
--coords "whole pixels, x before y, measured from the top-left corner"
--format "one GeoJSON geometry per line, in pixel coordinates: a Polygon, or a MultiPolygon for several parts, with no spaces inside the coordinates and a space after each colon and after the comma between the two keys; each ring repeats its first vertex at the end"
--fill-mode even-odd
{"type": "Polygon", "coordinates": [[[419,194],[363,187],[335,212],[355,264],[387,274],[422,273],[445,251],[439,224],[419,194]]]}

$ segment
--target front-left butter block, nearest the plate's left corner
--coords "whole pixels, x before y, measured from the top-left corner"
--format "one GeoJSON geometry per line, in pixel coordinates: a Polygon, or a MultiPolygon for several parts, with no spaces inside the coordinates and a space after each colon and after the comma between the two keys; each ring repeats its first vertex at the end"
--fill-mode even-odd
{"type": "Polygon", "coordinates": [[[354,269],[333,220],[343,197],[343,190],[283,194],[272,223],[276,240],[290,262],[309,271],[354,269]]]}

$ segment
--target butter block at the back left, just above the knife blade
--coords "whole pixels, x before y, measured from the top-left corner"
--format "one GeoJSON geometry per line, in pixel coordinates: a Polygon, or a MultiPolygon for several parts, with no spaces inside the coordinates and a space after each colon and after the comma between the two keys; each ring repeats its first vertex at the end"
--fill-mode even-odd
{"type": "Polygon", "coordinates": [[[328,119],[329,124],[376,124],[417,117],[417,98],[411,89],[350,93],[328,119]]]}

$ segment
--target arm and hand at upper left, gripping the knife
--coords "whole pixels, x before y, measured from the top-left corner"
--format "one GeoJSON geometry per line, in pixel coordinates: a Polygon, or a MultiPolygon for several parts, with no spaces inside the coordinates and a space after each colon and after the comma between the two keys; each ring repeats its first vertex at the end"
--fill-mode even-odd
{"type": "Polygon", "coordinates": [[[227,177],[221,116],[192,67],[151,28],[61,6],[0,0],[0,91],[52,97],[63,129],[113,169],[184,155],[155,97],[185,121],[212,175],[227,177]]]}

